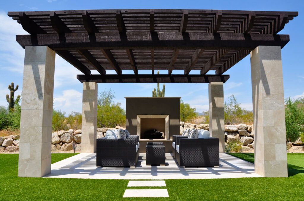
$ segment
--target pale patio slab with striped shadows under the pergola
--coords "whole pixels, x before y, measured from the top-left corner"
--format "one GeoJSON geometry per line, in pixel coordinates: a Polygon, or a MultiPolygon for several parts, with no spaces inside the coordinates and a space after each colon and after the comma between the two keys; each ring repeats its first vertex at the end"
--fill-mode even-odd
{"type": "Polygon", "coordinates": [[[220,153],[219,167],[178,166],[170,153],[166,153],[166,166],[146,166],[146,155],[140,154],[136,168],[96,167],[96,153],[80,153],[51,165],[50,178],[82,179],[219,179],[261,177],[254,173],[254,164],[220,153]]]}

